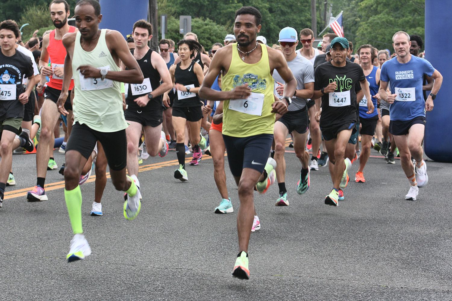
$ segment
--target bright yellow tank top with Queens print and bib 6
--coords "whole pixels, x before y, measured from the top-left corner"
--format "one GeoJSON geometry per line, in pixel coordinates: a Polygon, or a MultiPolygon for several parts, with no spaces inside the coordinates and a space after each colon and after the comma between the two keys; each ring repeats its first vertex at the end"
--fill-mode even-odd
{"type": "MultiPolygon", "coordinates": [[[[265,45],[262,45],[262,57],[255,64],[247,64],[242,61],[237,51],[237,43],[232,44],[231,67],[221,78],[223,91],[231,91],[236,86],[245,83],[251,87],[257,96],[264,96],[261,115],[251,115],[245,109],[233,110],[237,107],[233,102],[240,102],[247,106],[243,100],[225,100],[223,104],[223,134],[232,137],[249,137],[259,134],[273,134],[275,114],[271,113],[274,102],[274,81],[270,74],[270,64],[265,45]],[[244,112],[245,111],[245,112],[244,112]]],[[[236,103],[237,104],[237,103],[236,103]]],[[[258,106],[259,108],[259,106],[258,106]]],[[[248,106],[248,109],[250,107],[248,106]]],[[[255,112],[254,112],[255,113],[255,112]]]]}

